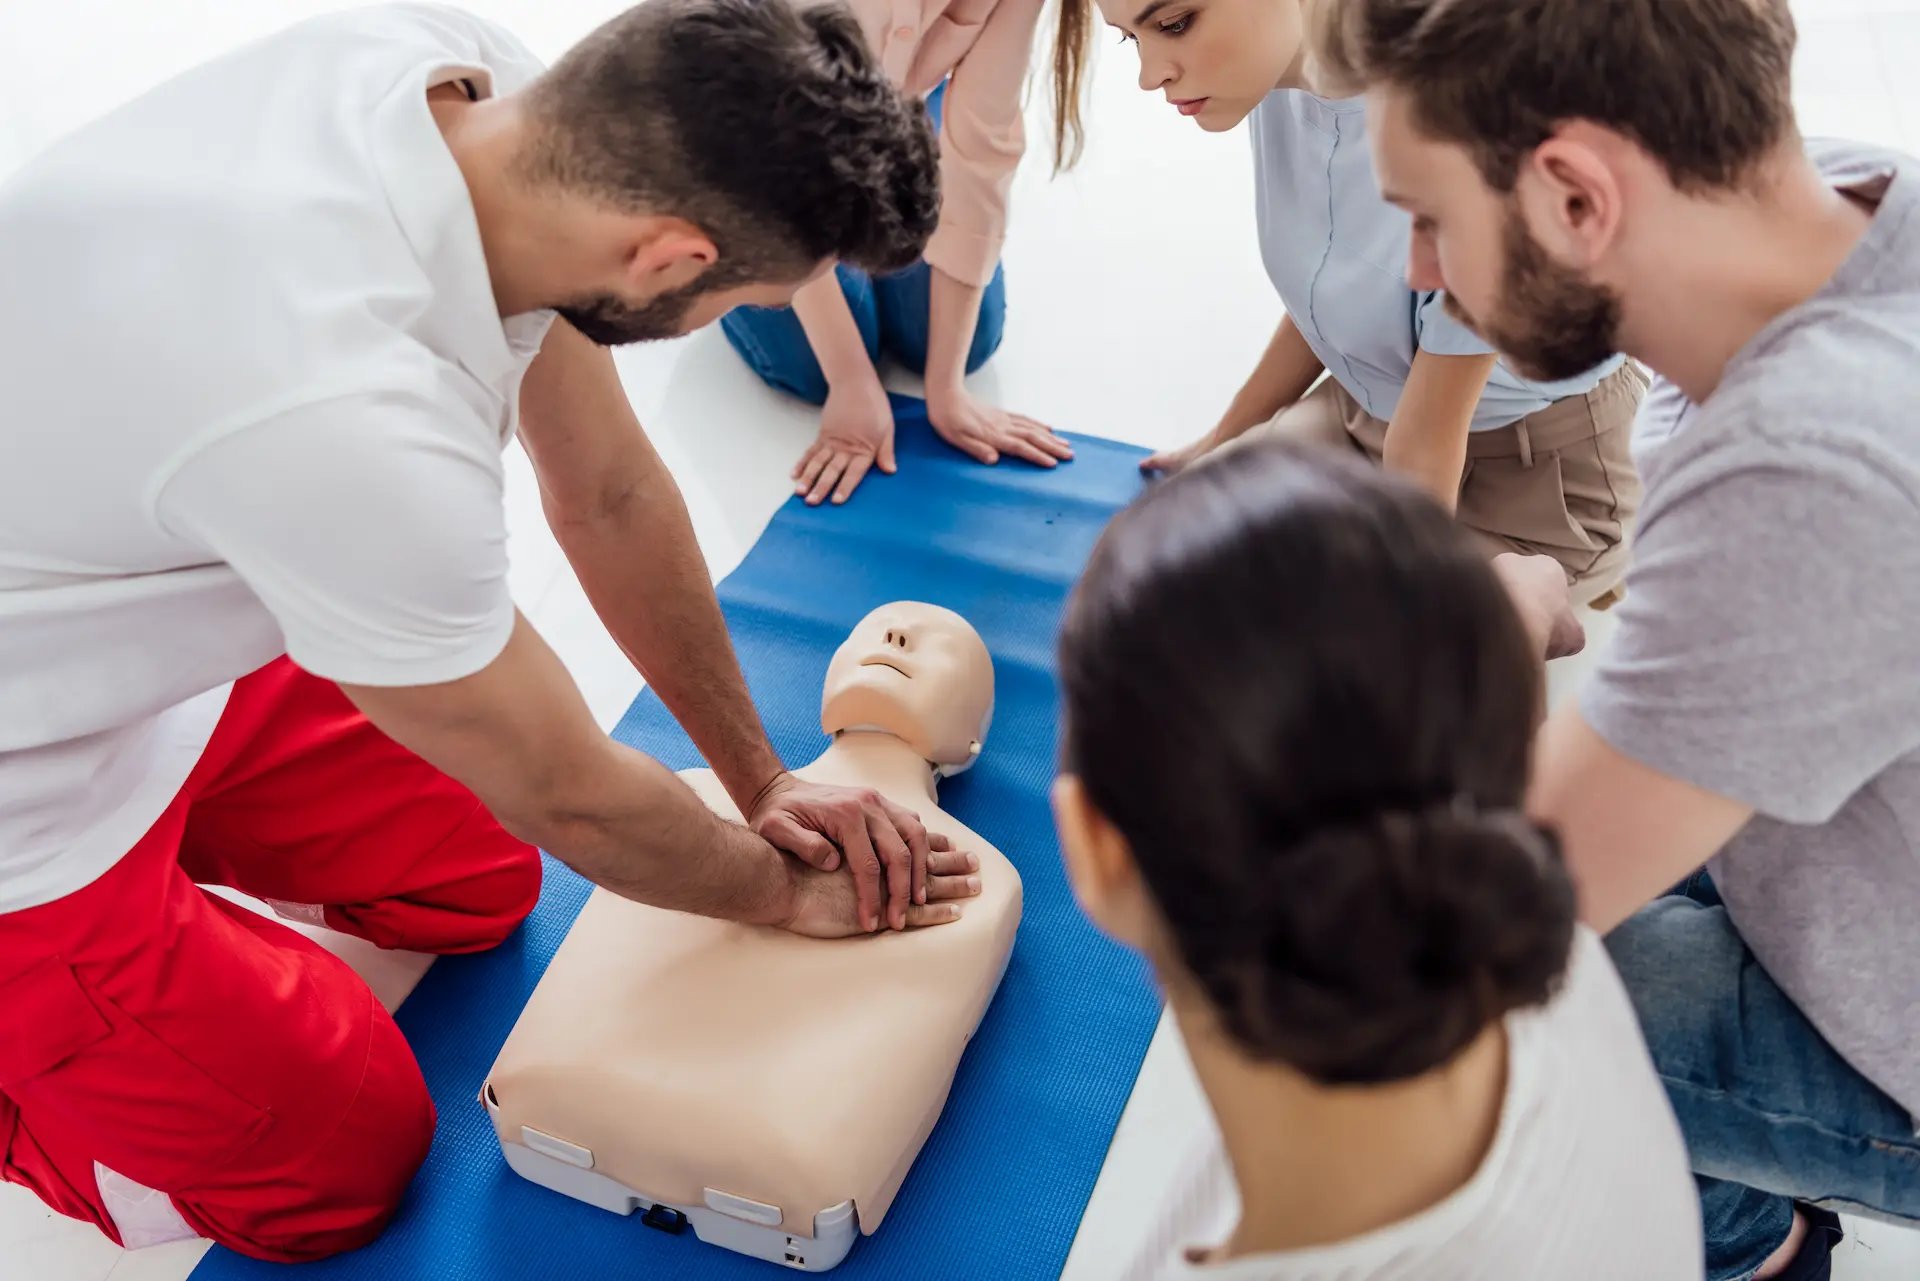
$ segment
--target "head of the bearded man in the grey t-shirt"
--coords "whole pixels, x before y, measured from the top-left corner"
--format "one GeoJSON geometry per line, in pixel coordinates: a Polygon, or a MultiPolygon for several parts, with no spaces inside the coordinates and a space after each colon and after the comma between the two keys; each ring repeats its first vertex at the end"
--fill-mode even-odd
{"type": "Polygon", "coordinates": [[[1634,351],[1647,286],[1720,248],[1724,221],[1699,213],[1799,148],[1788,0],[1313,0],[1308,13],[1315,65],[1367,92],[1380,188],[1413,215],[1407,282],[1444,288],[1534,378],[1634,351]]]}

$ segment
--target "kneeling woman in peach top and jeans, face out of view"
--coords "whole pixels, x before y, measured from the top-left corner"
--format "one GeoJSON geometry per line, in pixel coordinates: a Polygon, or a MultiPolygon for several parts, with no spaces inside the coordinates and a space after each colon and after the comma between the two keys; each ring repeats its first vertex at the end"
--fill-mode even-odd
{"type": "MultiPolygon", "coordinates": [[[[1000,346],[1006,321],[1000,244],[1027,146],[1021,94],[1043,2],[851,0],[893,81],[929,94],[943,204],[927,255],[906,271],[872,278],[839,267],[791,309],[741,307],[720,323],[760,378],[822,407],[820,438],[793,469],[808,503],[845,501],[876,463],[893,471],[883,351],[925,375],[927,419],[956,449],[1039,467],[1073,457],[1050,428],[981,403],[964,382],[1000,346]]],[[[1077,79],[1081,42],[1068,58],[1077,79]]]]}

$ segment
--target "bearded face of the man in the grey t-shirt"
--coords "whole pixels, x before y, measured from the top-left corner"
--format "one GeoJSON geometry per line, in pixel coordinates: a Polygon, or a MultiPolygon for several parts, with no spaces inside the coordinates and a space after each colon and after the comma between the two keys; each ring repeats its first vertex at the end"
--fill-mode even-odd
{"type": "Polygon", "coordinates": [[[1400,90],[1367,96],[1367,129],[1380,190],[1413,215],[1407,284],[1444,288],[1448,313],[1528,378],[1572,378],[1619,350],[1619,296],[1548,254],[1519,192],[1496,192],[1467,148],[1427,136],[1400,90]]]}

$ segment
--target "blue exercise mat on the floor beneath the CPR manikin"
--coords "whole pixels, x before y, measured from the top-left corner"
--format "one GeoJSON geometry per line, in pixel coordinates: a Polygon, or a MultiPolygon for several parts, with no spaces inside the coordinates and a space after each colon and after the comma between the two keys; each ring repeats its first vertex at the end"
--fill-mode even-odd
{"type": "MultiPolygon", "coordinates": [[[[933,438],[918,401],[897,401],[897,476],[877,472],[845,507],[789,501],[720,584],[733,645],[774,745],[789,762],[826,747],[828,659],[872,607],[920,599],[964,615],[993,651],[987,751],[941,803],[1020,868],[1025,912],[1000,993],[968,1047],[952,1097],[879,1233],[833,1275],[887,1281],[1058,1277],[1160,1014],[1144,968],[1073,905],[1054,841],[1054,632],[1100,528],[1139,488],[1140,451],[1073,438],[1056,471],[981,467],[933,438]]],[[[653,693],[614,737],[672,768],[701,764],[653,693]]],[[[474,1100],[547,960],[588,897],[547,858],[526,926],[478,956],[436,960],[399,1010],[440,1129],[399,1218],[374,1245],[307,1264],[311,1281],[603,1281],[780,1271],[691,1231],[645,1227],[526,1183],[474,1100]]],[[[282,1275],[211,1250],[194,1281],[282,1275]]]]}

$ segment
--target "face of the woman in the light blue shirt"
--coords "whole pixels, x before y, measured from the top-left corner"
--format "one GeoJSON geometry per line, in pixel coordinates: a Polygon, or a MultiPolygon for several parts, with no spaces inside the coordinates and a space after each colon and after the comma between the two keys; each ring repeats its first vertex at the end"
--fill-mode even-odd
{"type": "Polygon", "coordinates": [[[1098,0],[1140,54],[1140,88],[1208,133],[1244,121],[1304,40],[1300,0],[1098,0]]]}

